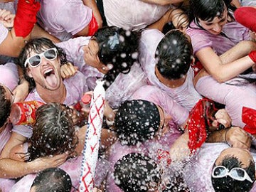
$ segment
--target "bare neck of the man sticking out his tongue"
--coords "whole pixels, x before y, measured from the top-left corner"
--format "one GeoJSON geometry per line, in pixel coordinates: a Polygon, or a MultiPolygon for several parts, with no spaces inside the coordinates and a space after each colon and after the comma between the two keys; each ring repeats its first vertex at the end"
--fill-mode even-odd
{"type": "Polygon", "coordinates": [[[59,102],[63,103],[66,97],[66,89],[63,82],[61,82],[60,87],[57,90],[48,90],[45,87],[36,86],[38,95],[46,103],[48,102],[59,102]]]}

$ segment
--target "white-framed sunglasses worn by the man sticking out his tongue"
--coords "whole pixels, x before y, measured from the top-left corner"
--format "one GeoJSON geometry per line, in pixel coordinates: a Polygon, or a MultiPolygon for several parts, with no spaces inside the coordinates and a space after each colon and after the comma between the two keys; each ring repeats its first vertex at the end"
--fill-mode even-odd
{"type": "Polygon", "coordinates": [[[49,48],[48,50],[44,51],[43,53],[36,54],[31,56],[30,58],[27,58],[24,64],[24,67],[29,64],[31,65],[31,68],[36,68],[38,65],[42,62],[42,56],[46,58],[47,60],[54,60],[57,58],[58,51],[57,48],[49,48]]]}

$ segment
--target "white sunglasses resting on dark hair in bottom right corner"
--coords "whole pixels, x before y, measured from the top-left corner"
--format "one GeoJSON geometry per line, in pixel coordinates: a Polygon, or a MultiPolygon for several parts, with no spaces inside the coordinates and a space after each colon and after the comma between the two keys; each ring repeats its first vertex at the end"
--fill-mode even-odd
{"type": "Polygon", "coordinates": [[[250,176],[248,176],[245,169],[242,169],[240,167],[235,167],[231,169],[230,171],[225,166],[215,166],[212,172],[213,178],[223,178],[225,176],[230,176],[231,178],[237,180],[237,181],[250,181],[253,183],[250,176]]]}

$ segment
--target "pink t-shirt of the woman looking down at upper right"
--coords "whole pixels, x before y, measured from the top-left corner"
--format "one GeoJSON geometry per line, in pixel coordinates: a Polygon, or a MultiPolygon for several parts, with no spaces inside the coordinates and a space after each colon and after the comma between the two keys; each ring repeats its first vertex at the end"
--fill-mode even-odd
{"type": "Polygon", "coordinates": [[[225,53],[242,40],[250,40],[249,29],[238,22],[226,23],[223,26],[223,35],[215,36],[206,30],[199,28],[192,22],[186,33],[191,37],[193,53],[196,54],[201,48],[210,47],[217,55],[225,53]]]}

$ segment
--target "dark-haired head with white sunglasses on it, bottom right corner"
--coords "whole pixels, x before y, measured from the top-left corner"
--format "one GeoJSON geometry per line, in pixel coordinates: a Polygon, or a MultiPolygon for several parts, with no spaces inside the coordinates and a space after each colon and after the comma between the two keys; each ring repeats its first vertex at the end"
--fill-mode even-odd
{"type": "MultiPolygon", "coordinates": [[[[246,174],[252,179],[251,181],[248,181],[245,179],[244,181],[238,181],[235,178],[232,178],[230,176],[224,176],[220,178],[214,178],[213,175],[211,176],[211,181],[213,184],[213,188],[216,192],[230,192],[230,191],[236,191],[236,192],[248,192],[252,188],[253,181],[255,181],[255,162],[253,161],[252,157],[247,157],[244,155],[244,152],[241,152],[241,155],[245,157],[245,162],[240,160],[232,151],[233,149],[226,149],[222,153],[223,157],[218,157],[218,159],[215,161],[215,164],[213,166],[213,169],[216,166],[224,166],[228,171],[232,170],[233,168],[242,168],[246,171],[246,174]],[[230,154],[231,152],[231,154],[230,154]]],[[[237,149],[235,149],[237,150],[237,149]]],[[[243,149],[238,149],[239,151],[243,149]]]]}

